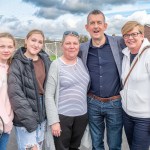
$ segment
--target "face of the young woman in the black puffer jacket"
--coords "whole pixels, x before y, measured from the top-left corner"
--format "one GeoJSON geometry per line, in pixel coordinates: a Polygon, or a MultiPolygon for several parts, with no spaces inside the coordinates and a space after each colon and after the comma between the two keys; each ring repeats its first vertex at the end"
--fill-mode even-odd
{"type": "Polygon", "coordinates": [[[33,58],[41,51],[44,45],[44,38],[40,33],[33,33],[25,39],[26,54],[33,58]]]}

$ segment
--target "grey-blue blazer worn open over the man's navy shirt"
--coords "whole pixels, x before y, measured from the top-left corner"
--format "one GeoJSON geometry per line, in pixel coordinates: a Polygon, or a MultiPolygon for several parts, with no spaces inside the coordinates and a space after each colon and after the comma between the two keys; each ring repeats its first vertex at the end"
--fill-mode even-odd
{"type": "MultiPolygon", "coordinates": [[[[116,65],[117,65],[117,69],[121,77],[121,68],[122,68],[121,66],[122,66],[122,58],[123,58],[122,50],[126,47],[124,40],[122,37],[119,37],[119,36],[106,35],[106,37],[108,38],[108,41],[109,41],[116,65]]],[[[82,43],[80,45],[80,52],[79,52],[79,57],[82,59],[83,64],[87,70],[88,68],[86,66],[86,63],[87,63],[87,56],[88,56],[90,41],[91,40],[89,40],[86,43],[82,43]]]]}

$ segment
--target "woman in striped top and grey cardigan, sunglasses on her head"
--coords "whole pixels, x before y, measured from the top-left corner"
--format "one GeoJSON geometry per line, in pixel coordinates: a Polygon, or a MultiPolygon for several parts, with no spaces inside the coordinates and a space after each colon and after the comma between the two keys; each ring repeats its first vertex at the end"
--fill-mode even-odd
{"type": "Polygon", "coordinates": [[[89,75],[79,57],[79,35],[66,31],[63,55],[55,60],[46,86],[48,125],[56,150],[78,150],[87,125],[87,86],[89,75]]]}

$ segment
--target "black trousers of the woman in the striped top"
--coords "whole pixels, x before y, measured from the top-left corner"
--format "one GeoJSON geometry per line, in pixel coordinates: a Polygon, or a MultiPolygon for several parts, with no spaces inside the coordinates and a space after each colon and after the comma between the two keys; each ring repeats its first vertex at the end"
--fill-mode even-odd
{"type": "Polygon", "coordinates": [[[79,150],[88,115],[76,117],[59,115],[59,119],[62,133],[60,137],[54,137],[56,150],[79,150]]]}

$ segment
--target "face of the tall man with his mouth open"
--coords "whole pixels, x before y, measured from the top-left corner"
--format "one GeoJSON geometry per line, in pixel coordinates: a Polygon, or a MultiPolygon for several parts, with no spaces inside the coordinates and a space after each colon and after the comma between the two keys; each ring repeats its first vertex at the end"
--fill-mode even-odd
{"type": "Polygon", "coordinates": [[[102,14],[91,14],[88,17],[88,23],[85,27],[92,40],[102,40],[107,24],[102,14]]]}

